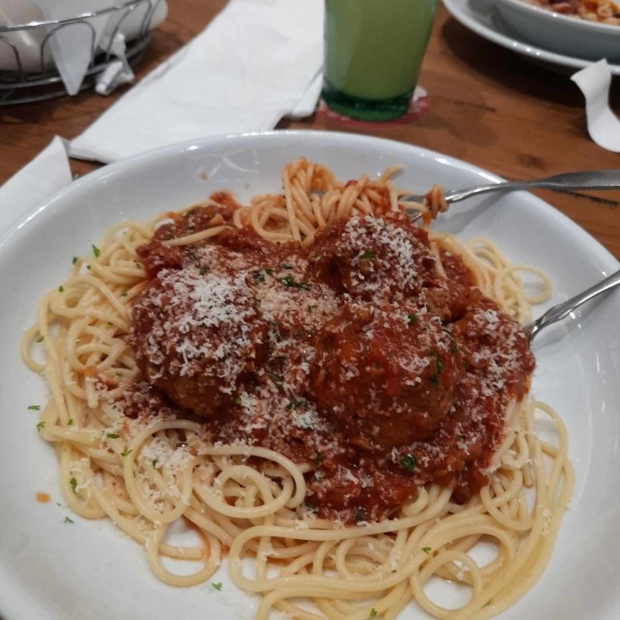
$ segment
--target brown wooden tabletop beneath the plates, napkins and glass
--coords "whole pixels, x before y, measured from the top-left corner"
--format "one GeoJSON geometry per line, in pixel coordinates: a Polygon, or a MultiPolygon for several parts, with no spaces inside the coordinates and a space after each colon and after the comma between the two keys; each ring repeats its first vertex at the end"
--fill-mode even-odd
{"type": "MultiPolygon", "coordinates": [[[[169,2],[169,17],[155,33],[139,64],[138,77],[203,29],[224,4],[224,0],[169,2]]],[[[620,168],[618,154],[601,149],[588,137],[582,95],[567,76],[543,71],[469,32],[443,6],[420,84],[430,94],[430,112],[423,120],[409,126],[373,125],[366,133],[435,149],[508,179],[620,168]]],[[[0,183],[32,159],[55,134],[64,138],[78,135],[125,90],[119,89],[110,97],[91,91],[0,108],[0,183]]],[[[618,79],[611,104],[620,110],[618,79]]],[[[280,127],[347,131],[340,122],[320,115],[301,122],[285,121],[280,127]]],[[[75,174],[95,167],[97,164],[72,161],[75,174]]],[[[536,193],[620,259],[620,192],[536,193]]]]}

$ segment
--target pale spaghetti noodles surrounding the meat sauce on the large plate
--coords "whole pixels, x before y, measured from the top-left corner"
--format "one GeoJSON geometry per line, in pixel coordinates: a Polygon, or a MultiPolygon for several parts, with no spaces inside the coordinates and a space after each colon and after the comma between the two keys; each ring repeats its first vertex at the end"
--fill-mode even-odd
{"type": "MultiPolygon", "coordinates": [[[[436,188],[427,205],[400,202],[408,192],[394,187],[394,172],[341,184],[325,167],[298,159],[285,166],[283,195],[256,197],[247,207],[228,195],[214,195],[204,205],[214,210],[205,212],[205,228],[161,244],[188,247],[249,227],[267,241],[312,247],[319,231],[338,221],[389,218],[403,208],[430,219],[445,210],[436,188]]],[[[146,547],[151,569],[170,585],[204,582],[228,548],[234,583],[263,594],[260,620],[272,607],[303,620],[394,619],[412,600],[436,618],[482,619],[521,598],[551,556],[573,488],[567,433],[548,405],[511,399],[504,412],[509,421],[488,464],[489,482],[465,502],[456,501],[454,480],[444,485],[429,481],[387,516],[355,518],[355,525],[349,525],[352,519],[325,518],[309,505],[314,484],[309,476],[319,470],[317,463],[251,441],[213,441],[213,433],[205,430],[208,424],[179,415],[148,386],[135,389],[136,382],[144,381],[127,334],[132,308],[148,299],[149,286],[148,264],[138,248],[162,225],[188,213],[112,228],[93,246],[91,257],[73,259],[68,280],[42,299],[38,322],[25,335],[22,357],[33,371],[45,373],[50,386],[38,429],[55,446],[69,507],[84,518],[110,518],[146,547]],[[44,365],[33,359],[34,347],[45,348],[44,365]],[[148,417],[131,415],[132,407],[151,405],[154,412],[148,417]],[[536,435],[541,414],[556,425],[557,445],[536,435]],[[197,529],[204,547],[163,542],[179,518],[197,529]],[[495,559],[482,566],[468,553],[480,539],[498,549],[495,559]],[[201,560],[203,567],[192,575],[175,575],[161,556],[201,560]],[[251,576],[242,567],[247,556],[255,560],[251,576]],[[471,600],[460,609],[433,602],[425,593],[432,577],[469,586],[471,600]],[[299,598],[311,600],[316,609],[299,606],[299,598]]],[[[461,257],[482,294],[522,323],[529,319],[530,304],[549,294],[544,274],[510,265],[485,239],[462,246],[454,237],[431,233],[430,249],[444,275],[446,257],[461,257]],[[519,276],[524,271],[541,278],[544,290],[536,298],[525,294],[519,276]]],[[[303,284],[290,276],[282,281],[295,294],[303,284]]],[[[489,316],[497,321],[493,311],[489,316]]],[[[443,363],[435,364],[440,373],[443,363]]],[[[310,414],[296,411],[298,401],[286,402],[289,415],[304,425],[310,414]]],[[[410,469],[412,461],[406,459],[401,462],[410,469]]]]}

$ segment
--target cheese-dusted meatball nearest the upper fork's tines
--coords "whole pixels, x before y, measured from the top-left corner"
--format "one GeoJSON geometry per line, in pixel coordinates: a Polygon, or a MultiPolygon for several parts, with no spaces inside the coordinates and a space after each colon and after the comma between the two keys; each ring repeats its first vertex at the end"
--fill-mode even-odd
{"type": "Polygon", "coordinates": [[[335,290],[368,301],[415,296],[438,277],[428,233],[400,212],[338,221],[317,237],[309,257],[335,290]]]}

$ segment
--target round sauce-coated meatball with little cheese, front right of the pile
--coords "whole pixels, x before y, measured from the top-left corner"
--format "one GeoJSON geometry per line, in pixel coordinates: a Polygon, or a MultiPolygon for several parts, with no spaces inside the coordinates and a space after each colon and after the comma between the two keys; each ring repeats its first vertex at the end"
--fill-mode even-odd
{"type": "Polygon", "coordinates": [[[426,438],[461,373],[438,317],[401,304],[347,304],[319,333],[310,386],[319,411],[361,448],[426,438]]]}

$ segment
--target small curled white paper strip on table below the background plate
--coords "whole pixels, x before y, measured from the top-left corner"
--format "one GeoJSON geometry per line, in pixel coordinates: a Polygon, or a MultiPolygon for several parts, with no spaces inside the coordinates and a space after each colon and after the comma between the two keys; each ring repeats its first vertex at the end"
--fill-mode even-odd
{"type": "Polygon", "coordinates": [[[606,60],[590,64],[572,79],[585,97],[585,113],[590,138],[608,151],[620,153],[620,120],[609,108],[611,71],[606,60]]]}

